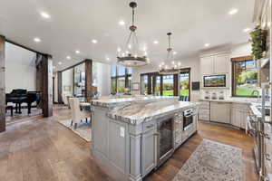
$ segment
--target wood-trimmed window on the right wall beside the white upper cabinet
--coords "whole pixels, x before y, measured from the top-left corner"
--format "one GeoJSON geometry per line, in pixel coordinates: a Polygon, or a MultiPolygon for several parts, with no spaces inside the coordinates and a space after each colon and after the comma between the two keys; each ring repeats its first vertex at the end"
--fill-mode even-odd
{"type": "Polygon", "coordinates": [[[232,60],[232,96],[257,97],[257,61],[251,56],[232,60]]]}

